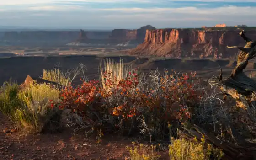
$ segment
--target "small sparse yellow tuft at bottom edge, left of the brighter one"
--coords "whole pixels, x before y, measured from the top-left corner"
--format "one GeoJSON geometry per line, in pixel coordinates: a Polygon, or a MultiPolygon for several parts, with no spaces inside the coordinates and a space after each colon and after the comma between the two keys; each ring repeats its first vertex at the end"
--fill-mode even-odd
{"type": "Polygon", "coordinates": [[[138,147],[135,142],[132,143],[133,147],[127,147],[130,154],[130,160],[158,160],[160,158],[155,145],[147,146],[139,144],[138,147]]]}

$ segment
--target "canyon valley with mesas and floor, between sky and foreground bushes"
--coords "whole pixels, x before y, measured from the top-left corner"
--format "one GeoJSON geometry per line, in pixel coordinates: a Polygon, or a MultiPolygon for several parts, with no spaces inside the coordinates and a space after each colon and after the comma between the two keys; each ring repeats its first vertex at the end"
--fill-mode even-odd
{"type": "MultiPolygon", "coordinates": [[[[256,38],[256,27],[156,29],[147,25],[134,30],[0,32],[0,83],[10,77],[21,83],[27,75],[40,76],[43,69],[59,65],[65,70],[80,63],[90,68],[88,76],[93,79],[98,76],[102,57],[122,57],[125,63],[145,72],[175,69],[196,71],[203,77],[218,75],[219,64],[225,75],[235,67],[239,53],[226,46],[243,45],[238,34],[243,29],[250,38],[256,38]]],[[[254,77],[254,69],[255,62],[250,61],[246,74],[252,72],[254,77]]]]}

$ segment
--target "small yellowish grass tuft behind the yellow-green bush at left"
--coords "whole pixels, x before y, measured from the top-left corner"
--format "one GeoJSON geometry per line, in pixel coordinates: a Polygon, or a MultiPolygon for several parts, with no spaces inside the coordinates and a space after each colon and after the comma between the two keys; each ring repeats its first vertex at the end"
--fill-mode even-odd
{"type": "Polygon", "coordinates": [[[70,82],[69,78],[67,78],[64,75],[64,73],[59,69],[54,69],[54,70],[44,69],[42,78],[44,80],[56,82],[62,86],[67,86],[69,85],[69,82],[70,82]]]}

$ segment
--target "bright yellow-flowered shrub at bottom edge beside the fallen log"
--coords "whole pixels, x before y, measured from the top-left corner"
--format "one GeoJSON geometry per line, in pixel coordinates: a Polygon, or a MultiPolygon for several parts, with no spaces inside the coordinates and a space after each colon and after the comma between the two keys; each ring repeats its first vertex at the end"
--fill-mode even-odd
{"type": "Polygon", "coordinates": [[[186,139],[171,138],[170,160],[220,160],[223,157],[223,152],[210,144],[207,144],[205,149],[205,140],[201,140],[201,143],[195,144],[186,139]]]}

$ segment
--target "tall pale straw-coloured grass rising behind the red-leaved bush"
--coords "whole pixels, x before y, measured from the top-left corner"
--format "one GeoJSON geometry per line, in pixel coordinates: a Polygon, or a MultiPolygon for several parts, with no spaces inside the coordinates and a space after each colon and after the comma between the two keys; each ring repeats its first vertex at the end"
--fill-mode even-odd
{"type": "Polygon", "coordinates": [[[106,85],[107,81],[112,81],[114,86],[118,85],[121,80],[124,80],[128,74],[128,67],[123,64],[123,59],[120,58],[119,62],[114,62],[113,59],[104,59],[103,64],[100,63],[100,82],[102,89],[107,92],[110,88],[106,85]],[[106,79],[106,73],[108,79],[106,79]]]}

